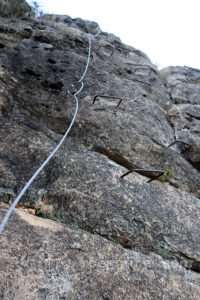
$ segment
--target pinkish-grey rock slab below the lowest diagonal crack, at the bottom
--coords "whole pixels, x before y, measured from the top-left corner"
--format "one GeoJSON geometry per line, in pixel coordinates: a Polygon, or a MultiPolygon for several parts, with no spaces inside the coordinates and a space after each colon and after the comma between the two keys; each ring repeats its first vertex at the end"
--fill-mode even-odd
{"type": "MultiPolygon", "coordinates": [[[[1,213],[5,209],[1,205],[1,213]]],[[[1,236],[0,255],[1,299],[200,297],[199,276],[176,262],[123,249],[21,210],[1,236]]]]}

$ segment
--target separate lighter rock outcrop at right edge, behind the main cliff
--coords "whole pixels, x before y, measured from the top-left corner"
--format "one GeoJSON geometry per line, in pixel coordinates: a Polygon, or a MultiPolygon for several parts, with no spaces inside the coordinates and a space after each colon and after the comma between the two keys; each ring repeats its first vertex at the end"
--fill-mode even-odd
{"type": "Polygon", "coordinates": [[[188,67],[169,67],[161,70],[174,106],[168,111],[175,138],[192,146],[184,157],[200,170],[200,71],[188,67]]]}

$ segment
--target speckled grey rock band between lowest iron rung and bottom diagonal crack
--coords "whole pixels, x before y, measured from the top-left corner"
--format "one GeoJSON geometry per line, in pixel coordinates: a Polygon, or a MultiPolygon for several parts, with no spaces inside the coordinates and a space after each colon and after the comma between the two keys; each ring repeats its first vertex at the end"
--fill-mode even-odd
{"type": "MultiPolygon", "coordinates": [[[[100,154],[68,152],[59,160],[54,162],[59,177],[49,177],[46,189],[40,181],[24,202],[35,207],[37,214],[143,253],[166,249],[168,258],[177,258],[190,269],[200,268],[199,199],[168,183],[148,184],[138,174],[121,180],[125,169],[100,154]]],[[[53,165],[49,168],[51,174],[53,165]]]]}

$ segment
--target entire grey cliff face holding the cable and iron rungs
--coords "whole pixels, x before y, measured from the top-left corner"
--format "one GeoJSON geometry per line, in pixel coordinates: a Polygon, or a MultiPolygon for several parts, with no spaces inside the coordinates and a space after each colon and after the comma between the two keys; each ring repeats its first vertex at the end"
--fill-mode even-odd
{"type": "Polygon", "coordinates": [[[97,32],[0,18],[0,220],[66,131],[92,40],[70,136],[20,202],[37,216],[0,236],[0,299],[199,299],[200,71],[97,32]]]}

